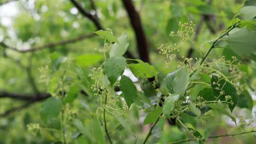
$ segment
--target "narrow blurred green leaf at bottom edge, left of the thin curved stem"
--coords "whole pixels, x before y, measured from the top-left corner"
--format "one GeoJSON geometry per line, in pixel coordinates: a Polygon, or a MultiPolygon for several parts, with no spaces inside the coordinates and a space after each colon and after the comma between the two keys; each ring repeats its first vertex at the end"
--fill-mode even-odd
{"type": "Polygon", "coordinates": [[[105,144],[103,129],[101,127],[100,120],[96,115],[93,117],[91,121],[91,131],[92,135],[94,136],[98,144],[105,144]]]}

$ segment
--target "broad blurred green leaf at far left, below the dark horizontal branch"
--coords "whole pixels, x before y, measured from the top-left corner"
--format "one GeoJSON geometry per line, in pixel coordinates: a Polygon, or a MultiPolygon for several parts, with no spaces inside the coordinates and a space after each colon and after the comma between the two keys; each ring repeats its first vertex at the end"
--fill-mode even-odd
{"type": "Polygon", "coordinates": [[[55,97],[48,98],[40,109],[40,117],[45,124],[58,117],[61,111],[61,99],[55,97]]]}

